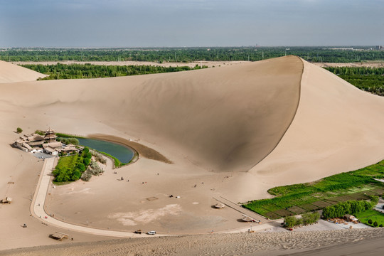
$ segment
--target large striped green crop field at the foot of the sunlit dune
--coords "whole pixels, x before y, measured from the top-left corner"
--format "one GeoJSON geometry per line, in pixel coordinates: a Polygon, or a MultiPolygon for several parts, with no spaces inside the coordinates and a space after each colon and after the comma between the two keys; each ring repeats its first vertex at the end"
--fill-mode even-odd
{"type": "Polygon", "coordinates": [[[272,215],[289,215],[286,209],[296,213],[303,208],[306,211],[319,210],[338,202],[365,200],[370,195],[378,195],[384,190],[384,184],[374,178],[384,176],[384,160],[356,171],[336,174],[311,183],[270,188],[268,193],[274,198],[250,201],[242,206],[271,218],[272,215]],[[274,214],[271,214],[271,213],[274,214]]]}

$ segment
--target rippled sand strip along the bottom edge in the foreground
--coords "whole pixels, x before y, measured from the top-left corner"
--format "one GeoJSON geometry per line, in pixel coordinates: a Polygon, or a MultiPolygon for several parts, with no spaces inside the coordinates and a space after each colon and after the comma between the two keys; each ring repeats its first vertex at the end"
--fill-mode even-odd
{"type": "Polygon", "coordinates": [[[186,235],[9,250],[0,255],[382,255],[384,229],[186,235]]]}

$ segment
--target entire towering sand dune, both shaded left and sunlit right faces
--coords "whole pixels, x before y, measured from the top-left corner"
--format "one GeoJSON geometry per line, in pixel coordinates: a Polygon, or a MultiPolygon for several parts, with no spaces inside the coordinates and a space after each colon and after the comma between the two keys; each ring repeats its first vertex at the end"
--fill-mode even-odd
{"type": "Polygon", "coordinates": [[[183,73],[4,84],[0,90],[4,120],[17,110],[63,131],[124,132],[207,170],[248,171],[272,151],[252,174],[274,179],[294,171],[311,180],[384,156],[384,99],[294,56],[183,73]],[[100,124],[109,128],[99,130],[100,124]]]}

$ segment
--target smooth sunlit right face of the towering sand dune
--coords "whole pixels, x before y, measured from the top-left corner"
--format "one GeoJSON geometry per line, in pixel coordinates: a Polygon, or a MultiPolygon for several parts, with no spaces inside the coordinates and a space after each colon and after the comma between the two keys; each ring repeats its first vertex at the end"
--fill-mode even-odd
{"type": "MultiPolygon", "coordinates": [[[[304,60],[303,60],[304,61],[304,60]]],[[[384,159],[384,97],[304,61],[292,125],[252,174],[277,184],[314,181],[384,159]]]]}

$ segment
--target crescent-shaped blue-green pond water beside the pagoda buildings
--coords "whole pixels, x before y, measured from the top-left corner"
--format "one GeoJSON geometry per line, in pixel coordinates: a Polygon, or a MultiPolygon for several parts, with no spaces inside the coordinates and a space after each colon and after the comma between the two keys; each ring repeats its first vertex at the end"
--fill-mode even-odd
{"type": "Polygon", "coordinates": [[[122,146],[113,142],[105,142],[99,139],[78,139],[80,145],[87,146],[91,149],[96,149],[110,154],[116,157],[123,164],[129,163],[134,157],[134,151],[129,149],[127,146],[122,146]]]}

